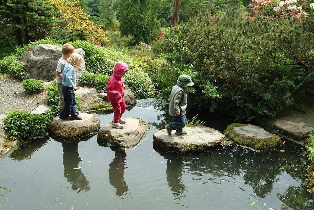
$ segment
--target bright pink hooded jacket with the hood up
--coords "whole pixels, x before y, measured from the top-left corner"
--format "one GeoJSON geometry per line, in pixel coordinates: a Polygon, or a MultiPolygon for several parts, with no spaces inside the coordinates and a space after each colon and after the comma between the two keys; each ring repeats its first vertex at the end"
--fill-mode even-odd
{"type": "Polygon", "coordinates": [[[124,101],[124,85],[122,76],[127,69],[127,64],[122,61],[117,62],[113,68],[113,73],[107,82],[107,96],[109,102],[121,103],[124,101]]]}

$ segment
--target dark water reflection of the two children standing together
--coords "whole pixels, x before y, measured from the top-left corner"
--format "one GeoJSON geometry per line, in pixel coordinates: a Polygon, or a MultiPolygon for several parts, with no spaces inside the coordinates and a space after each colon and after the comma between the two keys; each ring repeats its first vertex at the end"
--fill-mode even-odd
{"type": "Polygon", "coordinates": [[[62,143],[62,148],[64,177],[72,184],[72,190],[77,190],[77,193],[82,190],[85,190],[85,192],[89,191],[89,181],[78,167],[78,163],[82,161],[78,154],[78,143],[62,143]]]}

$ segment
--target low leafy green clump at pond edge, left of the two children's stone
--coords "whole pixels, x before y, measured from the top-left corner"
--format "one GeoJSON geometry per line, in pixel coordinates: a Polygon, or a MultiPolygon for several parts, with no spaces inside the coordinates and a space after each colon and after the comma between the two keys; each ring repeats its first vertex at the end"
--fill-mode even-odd
{"type": "Polygon", "coordinates": [[[47,115],[11,110],[3,121],[4,134],[10,140],[42,138],[46,135],[50,121],[47,115]]]}

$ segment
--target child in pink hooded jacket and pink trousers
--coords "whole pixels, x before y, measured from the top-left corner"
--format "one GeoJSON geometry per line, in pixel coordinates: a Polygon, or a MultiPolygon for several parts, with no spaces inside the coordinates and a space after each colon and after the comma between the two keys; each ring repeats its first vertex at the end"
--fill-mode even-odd
{"type": "Polygon", "coordinates": [[[126,88],[123,84],[123,75],[127,72],[127,64],[119,61],[113,68],[113,73],[108,79],[107,83],[107,96],[108,100],[113,107],[113,122],[112,127],[122,129],[125,120],[121,117],[127,108],[124,101],[124,92],[126,88]]]}

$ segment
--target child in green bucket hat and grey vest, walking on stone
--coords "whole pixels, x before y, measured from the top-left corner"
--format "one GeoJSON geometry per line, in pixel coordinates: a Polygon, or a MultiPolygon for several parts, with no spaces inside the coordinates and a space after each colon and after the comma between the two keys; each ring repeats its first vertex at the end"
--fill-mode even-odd
{"type": "Polygon", "coordinates": [[[194,85],[189,75],[182,74],[178,77],[176,85],[172,88],[169,101],[169,114],[173,116],[173,122],[165,125],[168,135],[171,135],[172,130],[176,130],[176,135],[187,135],[183,131],[187,122],[187,93],[185,90],[194,85]]]}

